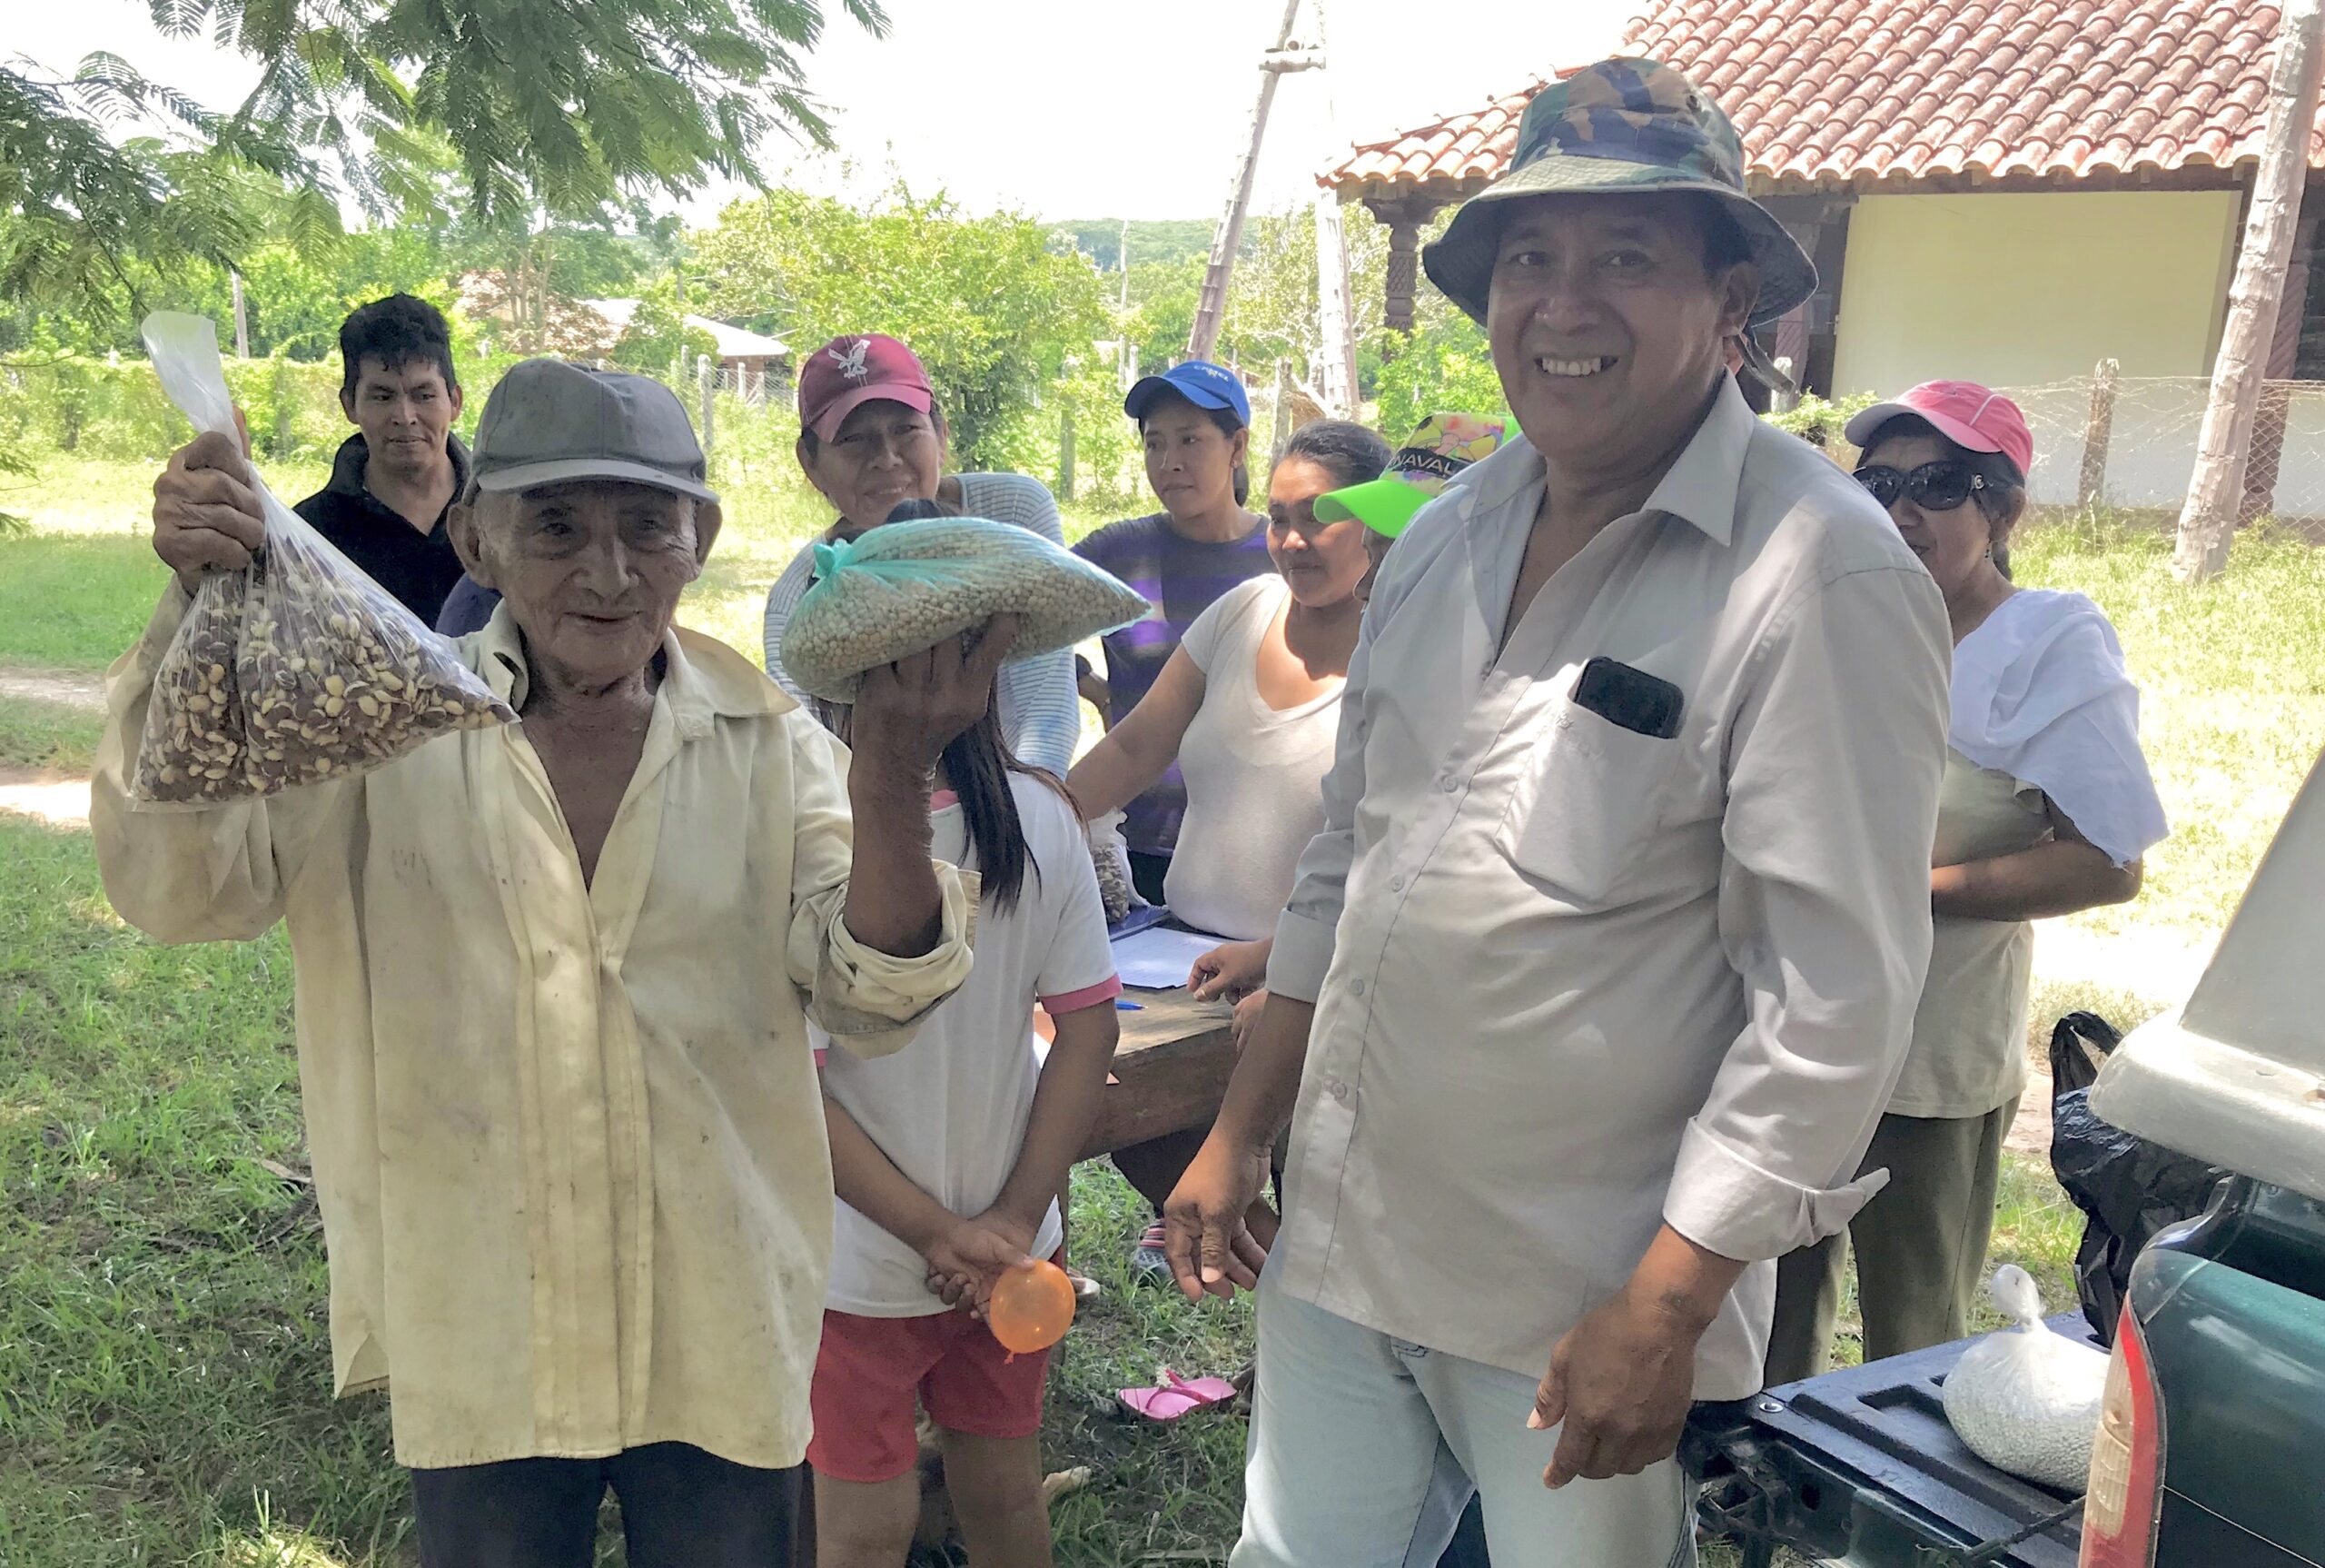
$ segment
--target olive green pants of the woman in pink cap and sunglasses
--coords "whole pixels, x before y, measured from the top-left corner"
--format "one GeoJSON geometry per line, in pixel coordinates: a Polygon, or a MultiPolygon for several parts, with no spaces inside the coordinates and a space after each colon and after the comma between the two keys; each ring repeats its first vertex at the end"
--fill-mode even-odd
{"type": "Polygon", "coordinates": [[[1969,1333],[1969,1303],[1995,1233],[2002,1140],[2018,1100],[1983,1117],[1881,1117],[1862,1170],[1890,1173],[1844,1235],[1802,1247],[1776,1266],[1776,1326],[1767,1387],[1832,1366],[1832,1319],[1848,1254],[1858,1261],[1865,1359],[1902,1356],[1969,1333]]]}

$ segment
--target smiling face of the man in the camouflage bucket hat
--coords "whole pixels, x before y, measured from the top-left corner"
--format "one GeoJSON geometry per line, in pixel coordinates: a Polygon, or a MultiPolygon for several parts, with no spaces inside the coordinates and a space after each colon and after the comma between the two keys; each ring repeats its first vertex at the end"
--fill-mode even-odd
{"type": "Polygon", "coordinates": [[[1714,270],[1704,249],[1702,209],[1676,193],[1509,205],[1486,337],[1551,463],[1628,472],[1693,428],[1760,288],[1748,263],[1714,270]]]}

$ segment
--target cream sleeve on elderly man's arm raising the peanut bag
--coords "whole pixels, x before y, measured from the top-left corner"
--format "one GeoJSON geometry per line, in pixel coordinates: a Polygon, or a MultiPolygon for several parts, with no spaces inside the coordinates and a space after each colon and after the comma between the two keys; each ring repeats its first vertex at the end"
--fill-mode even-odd
{"type": "Polygon", "coordinates": [[[360,784],[309,784],[219,805],[142,805],[130,798],[153,675],[193,600],[170,584],[144,637],[105,675],[105,737],[88,784],[88,826],[105,896],[158,942],[242,942],[281,919],[291,882],[360,784]]]}

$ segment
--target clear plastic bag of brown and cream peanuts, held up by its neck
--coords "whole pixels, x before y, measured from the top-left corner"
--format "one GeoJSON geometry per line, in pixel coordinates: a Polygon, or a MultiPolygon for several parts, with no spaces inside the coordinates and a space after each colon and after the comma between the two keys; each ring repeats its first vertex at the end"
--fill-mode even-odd
{"type": "MultiPolygon", "coordinates": [[[[153,372],[195,430],[235,435],[205,316],[144,321],[153,372]]],[[[153,672],[130,793],[216,805],[379,768],[460,728],[509,724],[507,703],[379,584],[267,493],[265,544],[212,572],[153,672]]]]}

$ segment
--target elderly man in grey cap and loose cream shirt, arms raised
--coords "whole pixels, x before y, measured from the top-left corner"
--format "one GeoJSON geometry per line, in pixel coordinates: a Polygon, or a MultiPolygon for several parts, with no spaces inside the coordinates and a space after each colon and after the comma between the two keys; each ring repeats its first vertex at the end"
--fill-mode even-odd
{"type": "Polygon", "coordinates": [[[335,1380],[391,1396],[425,1568],[586,1568],[607,1487],[632,1563],[781,1563],[832,1245],[807,1017],[890,1052],[967,977],[928,777],[1011,633],[870,672],[851,768],[672,626],[718,537],[686,409],[556,361],[493,391],[451,530],[502,596],[458,654],[521,724],[142,810],[156,661],[263,540],[230,440],[170,461],[179,582],[109,682],[105,889],[167,942],[291,931],[335,1380]]]}

